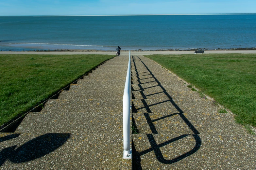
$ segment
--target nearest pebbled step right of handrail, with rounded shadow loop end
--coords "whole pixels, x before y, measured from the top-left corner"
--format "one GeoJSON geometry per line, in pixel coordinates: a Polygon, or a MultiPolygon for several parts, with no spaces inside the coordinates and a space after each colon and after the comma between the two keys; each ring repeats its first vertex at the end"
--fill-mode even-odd
{"type": "Polygon", "coordinates": [[[254,169],[255,142],[232,132],[133,134],[134,169],[254,169]]]}

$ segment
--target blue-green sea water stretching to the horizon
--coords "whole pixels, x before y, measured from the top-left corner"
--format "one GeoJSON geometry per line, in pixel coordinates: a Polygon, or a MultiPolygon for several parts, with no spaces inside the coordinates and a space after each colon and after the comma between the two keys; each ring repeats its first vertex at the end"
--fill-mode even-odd
{"type": "Polygon", "coordinates": [[[256,15],[0,17],[0,50],[256,47],[256,15]]]}

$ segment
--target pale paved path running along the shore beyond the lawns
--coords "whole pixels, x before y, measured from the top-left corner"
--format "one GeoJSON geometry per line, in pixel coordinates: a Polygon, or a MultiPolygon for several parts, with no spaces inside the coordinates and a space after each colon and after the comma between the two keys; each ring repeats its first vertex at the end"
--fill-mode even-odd
{"type": "MultiPolygon", "coordinates": [[[[194,54],[195,51],[132,51],[132,55],[150,55],[150,54],[194,54]]],[[[228,54],[228,53],[243,53],[243,54],[256,54],[256,50],[209,50],[204,54],[228,54]]],[[[116,55],[115,51],[0,51],[0,54],[57,54],[57,55],[71,55],[71,54],[109,54],[116,55]]],[[[129,51],[121,51],[121,56],[129,55],[129,51]]],[[[201,54],[196,54],[201,55],[201,54]]]]}

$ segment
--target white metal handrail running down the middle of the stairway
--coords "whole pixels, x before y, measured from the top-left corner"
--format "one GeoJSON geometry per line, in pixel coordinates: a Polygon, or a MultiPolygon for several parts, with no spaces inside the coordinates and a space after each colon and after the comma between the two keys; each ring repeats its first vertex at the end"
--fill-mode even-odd
{"type": "Polygon", "coordinates": [[[130,106],[131,106],[131,51],[129,51],[129,62],[128,62],[126,81],[125,81],[124,97],[123,97],[123,130],[124,130],[123,159],[131,159],[130,106]]]}

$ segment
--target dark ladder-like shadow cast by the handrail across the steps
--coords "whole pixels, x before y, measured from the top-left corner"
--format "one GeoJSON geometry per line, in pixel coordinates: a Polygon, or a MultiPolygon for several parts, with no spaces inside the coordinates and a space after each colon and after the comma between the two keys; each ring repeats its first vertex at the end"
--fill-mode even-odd
{"type": "MultiPolygon", "coordinates": [[[[141,160],[140,160],[140,157],[148,152],[151,152],[151,151],[154,151],[155,155],[156,155],[156,158],[159,162],[161,163],[165,163],[165,164],[172,164],[172,163],[175,163],[175,162],[178,162],[190,155],[192,155],[193,153],[195,153],[201,146],[201,139],[199,137],[199,132],[196,130],[196,128],[193,126],[193,124],[185,117],[185,115],[183,114],[183,111],[179,108],[179,106],[173,101],[173,98],[168,94],[168,92],[164,89],[164,87],[162,87],[161,83],[158,81],[158,79],[152,74],[152,72],[149,70],[149,68],[145,65],[145,63],[138,57],[136,56],[139,61],[145,66],[145,73],[149,73],[147,74],[147,76],[151,75],[150,77],[150,82],[157,82],[157,85],[154,85],[154,86],[151,86],[151,87],[147,87],[147,88],[143,88],[141,84],[145,84],[145,83],[141,83],[140,80],[142,80],[140,77],[139,77],[139,73],[137,71],[137,67],[136,67],[136,63],[134,62],[134,57],[135,56],[132,56],[132,61],[133,61],[133,64],[134,64],[134,69],[135,69],[135,74],[136,74],[136,77],[138,79],[138,86],[139,86],[139,90],[136,90],[136,91],[139,91],[142,98],[141,101],[143,103],[143,107],[140,107],[140,108],[135,108],[134,104],[132,103],[132,113],[136,113],[138,110],[140,109],[146,109],[147,113],[144,113],[144,116],[145,116],[145,119],[150,127],[150,130],[152,131],[152,134],[146,134],[147,135],[147,138],[148,138],[148,141],[151,145],[151,148],[150,149],[146,149],[144,151],[141,151],[141,152],[138,152],[136,151],[136,148],[134,146],[134,143],[133,143],[133,148],[132,148],[132,151],[133,151],[133,165],[135,165],[133,168],[134,169],[142,169],[141,167],[141,160]],[[154,94],[149,94],[149,95],[145,95],[144,93],[144,90],[145,89],[149,89],[149,88],[153,88],[153,87],[157,87],[159,86],[161,89],[162,89],[162,92],[156,92],[154,94]],[[147,99],[147,96],[151,96],[151,95],[156,95],[156,94],[160,94],[160,93],[163,93],[165,94],[167,97],[168,97],[168,100],[165,100],[165,101],[161,101],[161,102],[158,102],[158,103],[154,103],[154,104],[151,104],[151,105],[148,105],[147,102],[146,102],[146,99],[147,99]],[[166,115],[166,116],[163,116],[161,118],[158,118],[158,119],[154,119],[152,120],[149,116],[149,113],[152,113],[151,109],[150,109],[150,106],[155,106],[155,105],[159,105],[159,104],[162,104],[162,103],[166,103],[166,102],[170,102],[171,105],[173,105],[178,113],[173,113],[173,114],[170,114],[170,115],[166,115]],[[170,139],[170,140],[167,140],[161,144],[158,144],[156,143],[155,139],[154,139],[154,136],[153,134],[158,134],[157,132],[157,129],[156,127],[154,126],[153,122],[155,121],[159,121],[159,120],[162,120],[162,119],[165,119],[165,118],[168,118],[168,117],[172,117],[172,116],[175,116],[175,115],[179,115],[181,117],[181,119],[187,124],[187,126],[191,129],[191,131],[193,132],[193,134],[184,134],[184,135],[180,135],[178,137],[175,137],[173,139],[170,139]],[[170,144],[172,142],[175,142],[175,141],[178,141],[184,137],[187,137],[189,135],[192,135],[196,141],[196,144],[194,146],[193,149],[191,149],[190,151],[172,159],[172,160],[166,160],[163,155],[162,155],[162,152],[160,150],[161,147],[167,145],[167,144],[170,144]]],[[[134,73],[133,73],[133,76],[134,73]]],[[[145,75],[143,75],[145,76],[145,75]]],[[[149,79],[149,78],[143,78],[143,79],[149,79]]],[[[147,82],[149,83],[149,82],[147,82]]],[[[132,88],[132,91],[135,91],[133,88],[132,88]]],[[[132,94],[132,98],[135,99],[134,95],[132,94]]],[[[132,123],[133,125],[135,126],[135,128],[137,128],[136,126],[136,122],[135,120],[132,118],[132,123]]]]}

